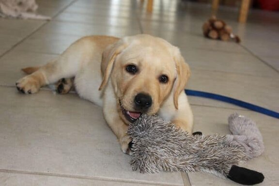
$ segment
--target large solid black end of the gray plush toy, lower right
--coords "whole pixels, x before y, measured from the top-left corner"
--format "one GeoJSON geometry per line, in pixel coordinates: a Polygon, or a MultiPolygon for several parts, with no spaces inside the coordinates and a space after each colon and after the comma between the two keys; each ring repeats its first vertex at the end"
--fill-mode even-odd
{"type": "Polygon", "coordinates": [[[233,165],[229,175],[230,180],[243,185],[255,185],[263,182],[264,176],[261,172],[249,170],[233,165]]]}

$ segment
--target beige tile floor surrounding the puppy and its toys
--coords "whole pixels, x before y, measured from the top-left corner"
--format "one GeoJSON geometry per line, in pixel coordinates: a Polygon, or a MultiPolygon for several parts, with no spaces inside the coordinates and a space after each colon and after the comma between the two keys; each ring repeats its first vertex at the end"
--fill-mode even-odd
{"type": "MultiPolygon", "coordinates": [[[[101,108],[76,94],[48,89],[17,93],[20,68],[41,65],[79,37],[138,33],[160,36],[181,48],[192,69],[188,88],[219,93],[279,111],[279,13],[252,10],[247,24],[237,9],[221,7],[243,42],[202,37],[207,4],[155,1],[148,14],[133,0],[37,0],[51,21],[0,19],[0,186],[229,186],[205,173],[132,172],[102,117],[101,108]]],[[[263,186],[279,185],[279,120],[230,104],[189,97],[195,130],[228,134],[227,117],[239,112],[259,126],[262,156],[246,167],[262,171],[263,186]]]]}

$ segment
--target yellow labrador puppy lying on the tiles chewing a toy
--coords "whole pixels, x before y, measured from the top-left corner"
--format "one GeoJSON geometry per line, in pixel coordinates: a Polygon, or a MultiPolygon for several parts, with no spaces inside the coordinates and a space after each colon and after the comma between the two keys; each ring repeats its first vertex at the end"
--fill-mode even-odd
{"type": "Polygon", "coordinates": [[[184,88],[190,71],[177,47],[150,35],[122,39],[88,36],[72,44],[56,60],[19,79],[21,93],[61,78],[75,77],[80,97],[103,107],[105,120],[129,154],[127,125],[141,113],[155,114],[192,132],[193,115],[184,88]]]}

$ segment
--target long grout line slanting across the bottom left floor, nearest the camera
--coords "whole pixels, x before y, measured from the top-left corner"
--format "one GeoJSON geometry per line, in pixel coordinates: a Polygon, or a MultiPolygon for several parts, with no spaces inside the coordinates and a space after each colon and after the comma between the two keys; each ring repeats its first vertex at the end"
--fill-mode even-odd
{"type": "Polygon", "coordinates": [[[63,178],[75,178],[75,179],[84,179],[84,180],[101,180],[101,181],[112,181],[112,182],[122,182],[122,183],[133,183],[133,184],[146,184],[146,185],[157,185],[157,186],[181,186],[173,184],[164,184],[164,183],[152,183],[146,181],[130,181],[127,179],[117,179],[117,178],[106,178],[106,177],[97,177],[97,176],[81,176],[81,175],[72,175],[72,174],[62,174],[62,173],[49,173],[49,172],[37,172],[37,171],[18,171],[18,170],[6,170],[0,169],[0,172],[3,173],[14,173],[14,174],[28,174],[28,175],[39,175],[39,176],[53,176],[53,177],[63,177],[63,178]]]}

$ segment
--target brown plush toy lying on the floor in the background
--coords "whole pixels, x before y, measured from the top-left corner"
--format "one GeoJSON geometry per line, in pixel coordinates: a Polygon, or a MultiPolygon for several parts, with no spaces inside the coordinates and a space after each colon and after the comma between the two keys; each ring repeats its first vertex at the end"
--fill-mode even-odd
{"type": "Polygon", "coordinates": [[[211,39],[220,39],[222,41],[233,39],[236,43],[240,43],[240,38],[232,33],[232,27],[215,16],[212,16],[203,24],[202,31],[205,37],[211,39]]]}

